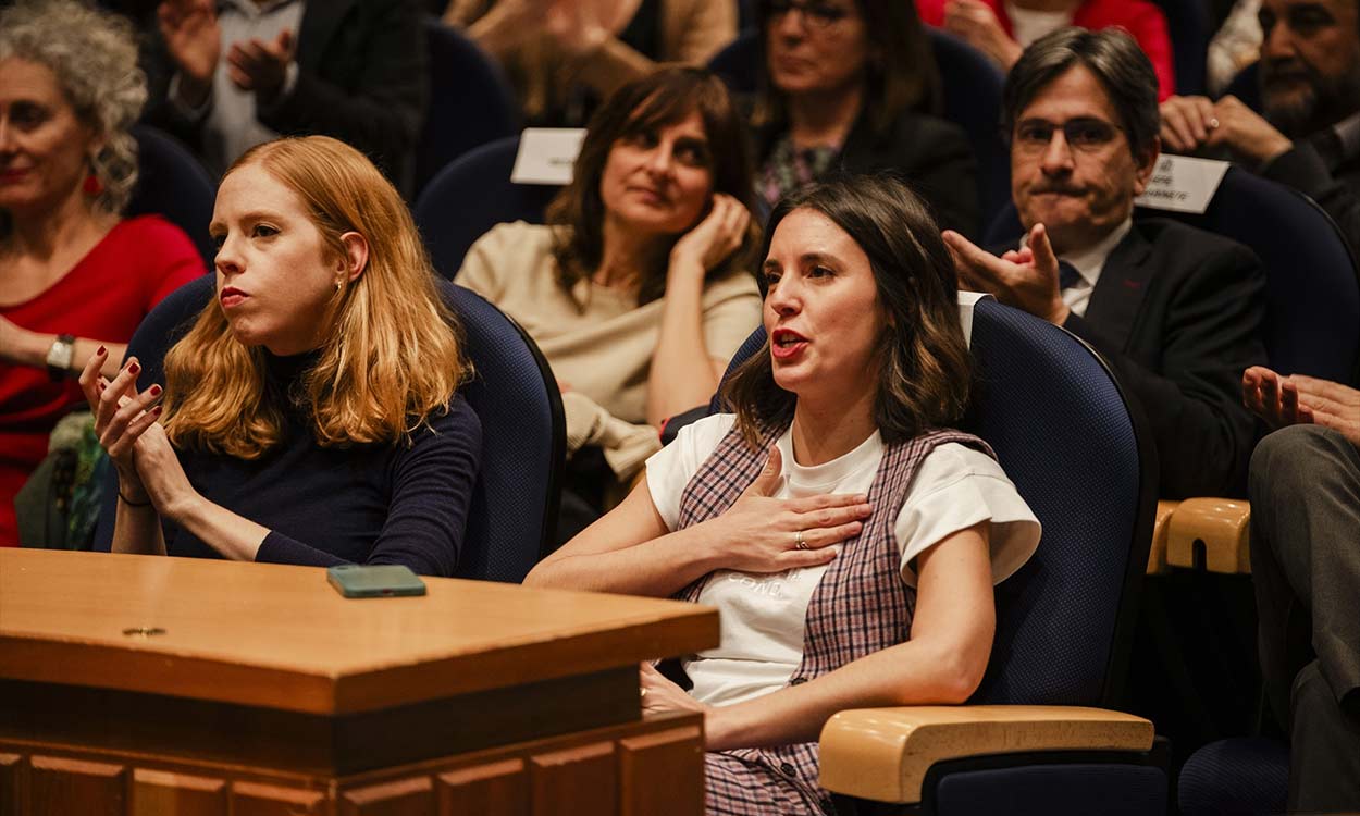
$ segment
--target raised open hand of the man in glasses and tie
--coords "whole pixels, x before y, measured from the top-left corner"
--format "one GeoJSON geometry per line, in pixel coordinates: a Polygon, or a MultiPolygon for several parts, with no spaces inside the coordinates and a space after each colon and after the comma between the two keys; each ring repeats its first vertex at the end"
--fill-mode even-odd
{"type": "Polygon", "coordinates": [[[1030,230],[1028,246],[1000,258],[953,230],[945,230],[942,237],[953,256],[959,288],[996,295],[1006,306],[1058,326],[1068,320],[1070,309],[1058,288],[1058,256],[1043,224],[1030,230]]]}

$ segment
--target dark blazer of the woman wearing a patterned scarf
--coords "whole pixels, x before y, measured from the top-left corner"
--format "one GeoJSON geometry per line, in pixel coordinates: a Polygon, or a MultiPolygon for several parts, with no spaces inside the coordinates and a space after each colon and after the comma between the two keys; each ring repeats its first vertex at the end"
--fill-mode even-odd
{"type": "MultiPolygon", "coordinates": [[[[758,165],[764,166],[783,128],[767,128],[756,137],[758,165]]],[[[903,110],[879,131],[861,112],[840,148],[846,173],[896,171],[911,185],[941,228],[974,238],[982,226],[978,201],[978,159],[968,136],[955,124],[914,110],[903,110]]]]}

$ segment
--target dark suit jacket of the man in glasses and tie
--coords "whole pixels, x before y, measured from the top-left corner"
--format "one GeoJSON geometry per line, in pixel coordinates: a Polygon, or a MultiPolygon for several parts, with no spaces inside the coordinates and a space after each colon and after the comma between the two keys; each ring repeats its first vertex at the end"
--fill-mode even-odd
{"type": "Polygon", "coordinates": [[[1257,427],[1242,371],[1266,363],[1263,294],[1265,269],[1246,246],[1140,218],[1106,260],[1085,317],[1064,324],[1146,415],[1161,498],[1246,495],[1257,427]]]}

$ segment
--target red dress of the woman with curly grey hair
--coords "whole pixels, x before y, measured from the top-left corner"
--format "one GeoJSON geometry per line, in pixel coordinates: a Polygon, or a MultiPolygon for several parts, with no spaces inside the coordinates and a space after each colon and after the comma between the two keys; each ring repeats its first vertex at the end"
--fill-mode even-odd
{"type": "MultiPolygon", "coordinates": [[[[126,343],[152,306],[203,273],[203,257],[180,227],[158,216],[132,218],[45,291],[0,306],[0,316],[34,332],[126,343]]],[[[45,369],[0,362],[0,547],[19,543],[14,495],[48,456],[48,435],[83,404],[75,379],[52,382],[45,369]]]]}

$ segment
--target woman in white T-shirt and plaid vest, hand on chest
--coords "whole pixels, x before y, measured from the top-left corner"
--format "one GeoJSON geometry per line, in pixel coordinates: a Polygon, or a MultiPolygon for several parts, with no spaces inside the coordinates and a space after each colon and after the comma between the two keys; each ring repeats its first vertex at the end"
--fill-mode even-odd
{"type": "Polygon", "coordinates": [[[641,680],[643,710],[703,715],[710,813],[823,812],[832,714],[968,699],[991,588],[1039,539],[987,445],[951,430],[970,358],[921,200],[817,184],[779,203],[767,241],[768,341],[725,392],[734,413],[683,428],[525,579],[721,611],[721,646],[681,662],[688,694],[651,666],[641,680]]]}

